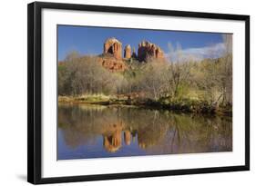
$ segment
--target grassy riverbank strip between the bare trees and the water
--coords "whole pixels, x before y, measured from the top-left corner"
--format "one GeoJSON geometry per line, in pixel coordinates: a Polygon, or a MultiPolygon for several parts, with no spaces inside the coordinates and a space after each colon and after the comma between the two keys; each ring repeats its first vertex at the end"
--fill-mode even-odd
{"type": "Polygon", "coordinates": [[[127,96],[107,96],[103,94],[58,96],[58,103],[87,103],[99,105],[133,105],[152,109],[163,109],[180,113],[206,113],[218,115],[232,115],[232,106],[219,106],[206,101],[191,99],[167,99],[158,101],[145,98],[130,98],[127,96]]]}

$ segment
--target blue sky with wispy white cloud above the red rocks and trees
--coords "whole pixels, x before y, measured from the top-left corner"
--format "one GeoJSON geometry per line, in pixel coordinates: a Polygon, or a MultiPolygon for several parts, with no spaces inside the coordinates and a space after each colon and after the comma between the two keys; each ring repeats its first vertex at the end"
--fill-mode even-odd
{"type": "Polygon", "coordinates": [[[69,52],[79,54],[102,54],[103,44],[108,37],[116,37],[124,46],[130,44],[138,50],[138,43],[147,40],[158,44],[169,54],[169,44],[180,44],[184,54],[196,58],[219,57],[224,44],[222,34],[181,31],[159,31],[142,29],[104,28],[90,26],[58,25],[58,61],[69,52]],[[209,54],[210,51],[210,54],[209,54]]]}

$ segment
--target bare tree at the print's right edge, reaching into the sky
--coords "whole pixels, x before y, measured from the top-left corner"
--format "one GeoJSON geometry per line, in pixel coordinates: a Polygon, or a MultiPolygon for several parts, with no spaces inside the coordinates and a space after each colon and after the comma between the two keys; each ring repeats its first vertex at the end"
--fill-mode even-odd
{"type": "Polygon", "coordinates": [[[217,107],[232,104],[232,35],[223,34],[222,38],[223,55],[202,60],[194,71],[194,81],[205,91],[204,99],[217,107]]]}

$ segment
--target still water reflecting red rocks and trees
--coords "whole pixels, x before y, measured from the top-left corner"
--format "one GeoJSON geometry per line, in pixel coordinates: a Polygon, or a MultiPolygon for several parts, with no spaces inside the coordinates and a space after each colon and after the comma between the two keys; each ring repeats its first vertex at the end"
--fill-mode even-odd
{"type": "Polygon", "coordinates": [[[231,117],[59,104],[57,159],[232,151],[231,117]]]}

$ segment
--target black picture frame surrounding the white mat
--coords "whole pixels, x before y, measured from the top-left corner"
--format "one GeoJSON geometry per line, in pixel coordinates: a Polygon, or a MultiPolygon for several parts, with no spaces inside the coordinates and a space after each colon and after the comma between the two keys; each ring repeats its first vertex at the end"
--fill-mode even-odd
{"type": "Polygon", "coordinates": [[[99,181],[180,174],[210,173],[250,170],[250,16],[199,12],[142,9],[130,7],[74,5],[35,2],[27,6],[27,181],[34,184],[69,181],[99,181]],[[115,174],[81,175],[42,178],[42,73],[41,73],[41,23],[42,9],[111,12],[138,15],[165,15],[210,19],[239,20],[245,22],[245,164],[240,166],[210,167],[175,171],[144,171],[115,174]]]}

